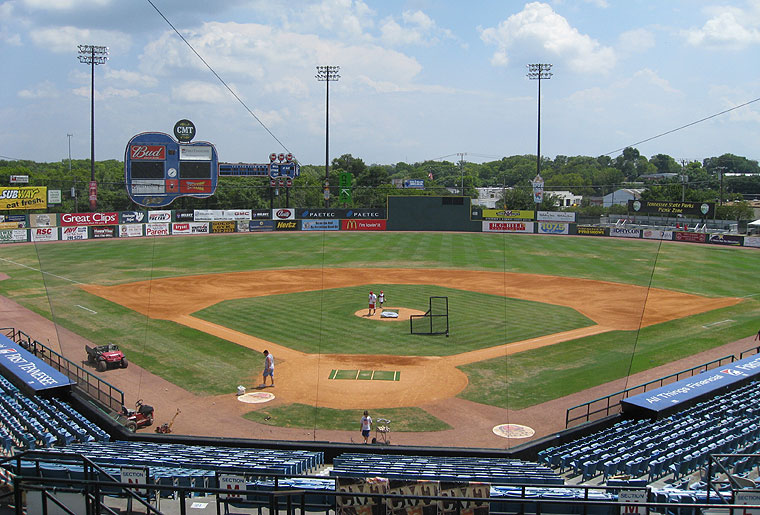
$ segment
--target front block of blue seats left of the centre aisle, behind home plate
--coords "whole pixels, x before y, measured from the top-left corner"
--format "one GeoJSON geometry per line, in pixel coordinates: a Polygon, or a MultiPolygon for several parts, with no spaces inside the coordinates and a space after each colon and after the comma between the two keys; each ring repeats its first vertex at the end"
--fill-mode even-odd
{"type": "Polygon", "coordinates": [[[235,470],[246,474],[305,474],[324,464],[323,452],[191,446],[149,442],[85,442],[66,447],[101,466],[235,470]]]}

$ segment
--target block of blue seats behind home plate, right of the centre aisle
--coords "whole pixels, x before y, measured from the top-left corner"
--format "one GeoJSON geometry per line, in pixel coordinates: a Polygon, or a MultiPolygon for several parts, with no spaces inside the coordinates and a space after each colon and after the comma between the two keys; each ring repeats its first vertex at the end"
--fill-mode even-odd
{"type": "Polygon", "coordinates": [[[554,471],[517,459],[343,453],[333,459],[332,476],[385,477],[492,484],[564,484],[554,471]]]}

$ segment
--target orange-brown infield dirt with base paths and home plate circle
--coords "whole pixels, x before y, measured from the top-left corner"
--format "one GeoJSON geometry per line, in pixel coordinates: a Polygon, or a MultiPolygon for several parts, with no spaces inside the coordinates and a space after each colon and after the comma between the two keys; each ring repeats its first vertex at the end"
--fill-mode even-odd
{"type": "MultiPolygon", "coordinates": [[[[338,409],[425,406],[453,399],[467,386],[467,376],[457,368],[459,365],[607,331],[635,330],[740,302],[735,298],[707,298],[588,279],[438,269],[251,271],[154,279],[117,286],[85,285],[82,288],[152,318],[171,320],[257,351],[269,349],[277,360],[275,375],[279,402],[338,409]],[[438,285],[567,306],[595,324],[461,354],[432,357],[305,354],[191,315],[224,300],[377,282],[438,285]],[[397,370],[401,372],[401,380],[328,380],[333,369],[397,370]]],[[[357,311],[359,313],[362,311],[357,311]]],[[[374,318],[380,320],[377,315],[374,318]]],[[[251,385],[258,384],[260,379],[257,365],[253,366],[251,385]]]]}

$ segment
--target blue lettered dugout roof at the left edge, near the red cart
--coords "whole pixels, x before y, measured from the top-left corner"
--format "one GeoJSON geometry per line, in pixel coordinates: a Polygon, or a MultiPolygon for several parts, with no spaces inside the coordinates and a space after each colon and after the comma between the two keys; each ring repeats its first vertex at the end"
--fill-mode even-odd
{"type": "Polygon", "coordinates": [[[75,383],[4,335],[0,335],[0,368],[4,376],[16,378],[17,384],[23,383],[34,391],[75,383]]]}

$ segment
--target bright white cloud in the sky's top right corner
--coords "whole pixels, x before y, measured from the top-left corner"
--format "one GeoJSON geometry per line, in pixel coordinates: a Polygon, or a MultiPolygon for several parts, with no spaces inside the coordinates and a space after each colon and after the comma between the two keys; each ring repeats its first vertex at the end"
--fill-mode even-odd
{"type": "Polygon", "coordinates": [[[713,16],[702,27],[681,32],[689,44],[742,49],[760,43],[760,3],[749,9],[721,7],[711,11],[713,16]]]}

